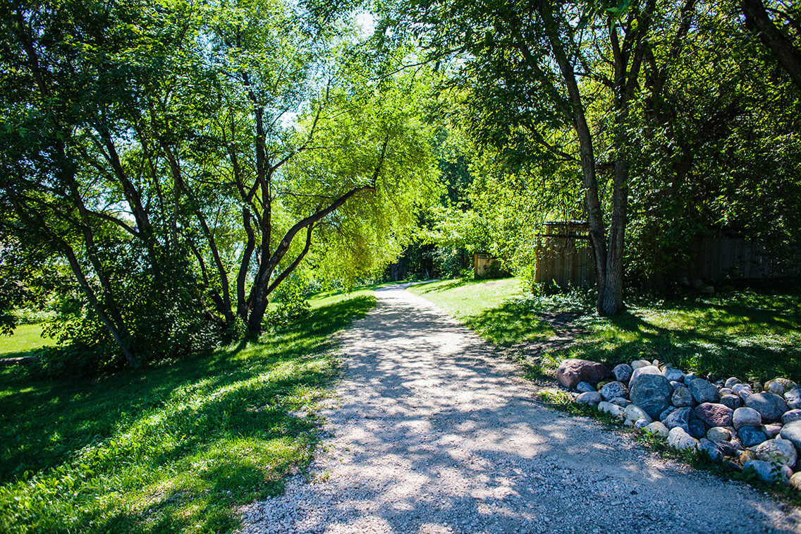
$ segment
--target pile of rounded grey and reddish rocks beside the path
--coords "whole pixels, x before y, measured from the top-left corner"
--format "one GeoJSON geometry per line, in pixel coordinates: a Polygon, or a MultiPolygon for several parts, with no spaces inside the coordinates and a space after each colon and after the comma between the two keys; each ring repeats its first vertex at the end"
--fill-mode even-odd
{"type": "Polygon", "coordinates": [[[661,436],[671,447],[801,491],[801,386],[787,378],[764,386],[735,377],[713,383],[658,361],[610,370],[571,358],[559,366],[557,380],[578,391],[576,403],[661,436]]]}

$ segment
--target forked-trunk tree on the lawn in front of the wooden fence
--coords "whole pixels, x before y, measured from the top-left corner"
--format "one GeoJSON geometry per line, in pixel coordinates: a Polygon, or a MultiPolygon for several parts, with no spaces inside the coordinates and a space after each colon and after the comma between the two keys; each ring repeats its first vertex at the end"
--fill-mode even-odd
{"type": "MultiPolygon", "coordinates": [[[[417,4],[416,4],[417,6],[417,4]]],[[[630,172],[630,103],[656,2],[424,2],[410,14],[434,55],[457,55],[472,90],[473,135],[509,160],[562,160],[582,172],[598,311],[623,308],[623,249],[630,172]],[[602,107],[613,138],[599,161],[587,110],[602,107]],[[553,131],[570,127],[578,154],[553,131]],[[612,172],[611,206],[598,172],[612,172]]]]}

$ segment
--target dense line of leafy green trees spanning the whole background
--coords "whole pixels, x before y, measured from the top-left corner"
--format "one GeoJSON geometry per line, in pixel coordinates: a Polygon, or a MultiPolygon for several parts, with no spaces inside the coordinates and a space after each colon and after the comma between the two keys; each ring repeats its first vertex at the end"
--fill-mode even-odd
{"type": "Polygon", "coordinates": [[[256,334],[282,285],[417,235],[525,273],[543,220],[586,219],[603,314],[700,235],[799,245],[789,2],[0,10],[0,309],[54,290],[51,332],[99,361],[256,334]]]}

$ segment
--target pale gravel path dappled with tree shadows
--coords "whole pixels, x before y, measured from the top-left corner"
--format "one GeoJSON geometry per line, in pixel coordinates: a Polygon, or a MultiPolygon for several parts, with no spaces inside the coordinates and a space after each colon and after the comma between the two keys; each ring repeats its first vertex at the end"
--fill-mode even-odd
{"type": "Polygon", "coordinates": [[[515,364],[400,287],[343,336],[313,482],[242,532],[801,532],[798,508],[532,403],[515,364]]]}

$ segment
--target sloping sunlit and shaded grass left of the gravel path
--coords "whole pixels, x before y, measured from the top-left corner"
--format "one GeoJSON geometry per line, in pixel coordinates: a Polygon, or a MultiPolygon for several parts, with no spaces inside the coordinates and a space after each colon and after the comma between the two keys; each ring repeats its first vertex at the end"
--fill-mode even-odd
{"type": "Polygon", "coordinates": [[[230,532],[311,458],[360,292],[258,342],[97,382],[0,370],[0,531],[230,532]]]}

